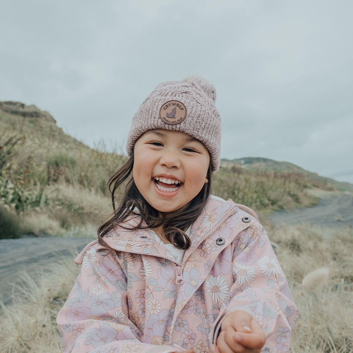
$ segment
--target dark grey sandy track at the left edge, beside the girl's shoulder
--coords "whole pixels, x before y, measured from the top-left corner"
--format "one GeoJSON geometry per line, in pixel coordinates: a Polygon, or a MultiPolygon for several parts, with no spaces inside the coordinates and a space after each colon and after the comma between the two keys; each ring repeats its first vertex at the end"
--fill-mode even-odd
{"type": "Polygon", "coordinates": [[[48,262],[60,254],[73,261],[70,250],[80,252],[90,241],[85,238],[23,237],[0,240],[0,299],[10,303],[11,283],[18,280],[20,271],[45,269],[48,262]]]}

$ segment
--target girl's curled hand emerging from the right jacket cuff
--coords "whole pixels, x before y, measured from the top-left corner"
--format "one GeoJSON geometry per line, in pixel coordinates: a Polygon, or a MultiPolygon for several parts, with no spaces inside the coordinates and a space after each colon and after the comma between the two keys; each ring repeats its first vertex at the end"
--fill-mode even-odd
{"type": "Polygon", "coordinates": [[[210,347],[210,353],[259,353],[265,340],[266,335],[257,320],[246,311],[237,310],[222,322],[217,345],[210,347]]]}

